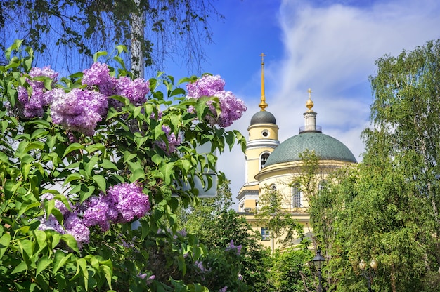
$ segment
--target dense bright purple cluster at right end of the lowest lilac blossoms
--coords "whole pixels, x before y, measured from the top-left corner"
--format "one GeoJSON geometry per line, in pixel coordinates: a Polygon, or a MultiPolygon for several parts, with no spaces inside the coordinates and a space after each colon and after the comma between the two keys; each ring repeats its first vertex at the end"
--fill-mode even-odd
{"type": "Polygon", "coordinates": [[[127,223],[141,218],[150,211],[148,196],[137,183],[121,183],[110,187],[107,195],[100,194],[84,202],[86,226],[98,225],[108,230],[110,223],[127,223]]]}

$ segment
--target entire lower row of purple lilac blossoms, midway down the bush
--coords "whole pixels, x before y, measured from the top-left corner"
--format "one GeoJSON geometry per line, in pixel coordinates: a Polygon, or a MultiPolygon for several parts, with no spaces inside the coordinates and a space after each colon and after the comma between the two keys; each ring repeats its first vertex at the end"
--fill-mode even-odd
{"type": "MultiPolygon", "coordinates": [[[[64,217],[64,226],[60,225],[54,215],[39,218],[39,230],[55,230],[60,234],[71,234],[77,240],[79,248],[89,243],[89,227],[98,225],[102,230],[108,230],[110,223],[127,223],[134,218],[141,218],[150,211],[148,196],[143,194],[138,183],[121,183],[110,187],[108,195],[100,194],[84,201],[84,204],[72,206],[72,211],[56,200],[55,206],[64,217]]],[[[41,196],[44,199],[53,199],[52,194],[41,196]]]]}

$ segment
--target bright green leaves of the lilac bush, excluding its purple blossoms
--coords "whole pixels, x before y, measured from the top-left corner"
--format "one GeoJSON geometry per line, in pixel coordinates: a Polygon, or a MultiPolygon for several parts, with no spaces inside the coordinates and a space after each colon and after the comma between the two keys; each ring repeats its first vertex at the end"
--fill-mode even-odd
{"type": "MultiPolygon", "coordinates": [[[[30,48],[20,51],[20,44],[16,41],[6,51],[8,64],[0,66],[1,288],[207,291],[194,265],[207,250],[196,237],[176,232],[175,211],[179,201],[188,206],[196,200],[194,178],[201,170],[215,169],[215,155],[198,153],[195,147],[209,141],[212,150],[222,152],[237,141],[242,144],[242,136],[207,124],[205,100],[186,99],[172,77],[150,79],[152,93],[141,106],[116,96],[122,106],[111,107],[91,136],[53,124],[49,109],[41,118],[18,117],[13,112],[18,87],[27,86],[33,57],[30,48]],[[190,113],[188,107],[201,112],[190,113]],[[159,110],[162,118],[153,119],[159,110]],[[157,140],[168,141],[163,125],[181,134],[177,152],[155,146],[157,140]],[[70,204],[82,204],[110,186],[135,181],[153,205],[137,225],[112,225],[105,232],[91,227],[90,242],[83,246],[70,234],[39,230],[41,220],[50,215],[63,225],[56,202],[72,208],[70,204]],[[41,203],[47,193],[54,198],[41,203]]],[[[127,72],[122,68],[119,73],[127,72]]],[[[81,77],[74,74],[54,86],[81,88],[81,77]]]]}

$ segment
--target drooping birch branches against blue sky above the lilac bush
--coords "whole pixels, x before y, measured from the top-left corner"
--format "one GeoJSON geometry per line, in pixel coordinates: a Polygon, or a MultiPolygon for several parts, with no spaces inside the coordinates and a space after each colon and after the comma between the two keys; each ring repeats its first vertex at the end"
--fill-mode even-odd
{"type": "Polygon", "coordinates": [[[202,45],[212,41],[209,20],[218,18],[212,0],[6,0],[0,1],[0,50],[25,39],[45,53],[44,64],[77,70],[96,51],[136,43],[142,54],[132,55],[132,63],[163,70],[172,59],[200,71],[202,45]],[[72,50],[79,58],[70,58],[72,50]]]}

